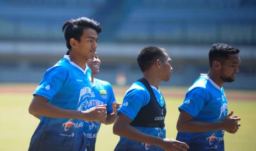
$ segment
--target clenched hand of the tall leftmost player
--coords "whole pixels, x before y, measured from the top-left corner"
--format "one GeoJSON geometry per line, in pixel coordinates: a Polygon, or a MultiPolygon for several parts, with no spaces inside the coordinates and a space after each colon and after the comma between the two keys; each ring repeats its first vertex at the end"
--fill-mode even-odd
{"type": "Polygon", "coordinates": [[[83,120],[104,123],[107,118],[107,104],[92,107],[83,112],[83,120]]]}

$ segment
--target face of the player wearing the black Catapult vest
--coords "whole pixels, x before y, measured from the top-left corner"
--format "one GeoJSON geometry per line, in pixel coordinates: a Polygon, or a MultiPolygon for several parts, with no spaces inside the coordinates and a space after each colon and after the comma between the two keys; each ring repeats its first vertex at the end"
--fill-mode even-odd
{"type": "Polygon", "coordinates": [[[172,75],[172,66],[171,66],[172,60],[168,56],[167,53],[165,53],[165,58],[161,61],[161,79],[164,82],[167,82],[170,80],[172,75]]]}

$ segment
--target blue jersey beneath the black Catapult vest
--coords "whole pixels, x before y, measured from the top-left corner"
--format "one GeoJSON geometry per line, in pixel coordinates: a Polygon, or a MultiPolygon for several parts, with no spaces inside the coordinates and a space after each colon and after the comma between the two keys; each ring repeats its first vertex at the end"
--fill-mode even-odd
{"type": "MultiPolygon", "coordinates": [[[[160,90],[157,90],[154,86],[151,85],[151,88],[156,96],[157,102],[161,107],[165,106],[164,98],[161,95],[160,90]]],[[[135,82],[130,86],[127,90],[122,106],[118,109],[118,113],[123,113],[131,120],[134,120],[140,109],[150,101],[149,91],[145,88],[145,86],[140,82],[135,82]]],[[[150,112],[150,111],[149,111],[150,112]]],[[[152,136],[165,138],[166,130],[165,128],[159,127],[137,127],[134,126],[135,129],[147,133],[152,136]]],[[[164,150],[158,146],[141,143],[133,140],[129,140],[125,137],[120,137],[120,140],[115,148],[115,150],[164,150]]]]}

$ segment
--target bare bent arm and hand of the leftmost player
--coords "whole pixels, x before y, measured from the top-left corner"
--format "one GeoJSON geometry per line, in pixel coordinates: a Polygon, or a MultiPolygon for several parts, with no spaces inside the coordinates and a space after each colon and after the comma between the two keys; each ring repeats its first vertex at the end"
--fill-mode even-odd
{"type": "Polygon", "coordinates": [[[75,111],[71,109],[63,109],[53,106],[48,103],[48,99],[34,95],[34,98],[29,106],[29,113],[35,117],[51,117],[51,118],[69,118],[69,119],[83,119],[87,121],[104,122],[106,119],[106,105],[96,106],[87,111],[75,111]]]}

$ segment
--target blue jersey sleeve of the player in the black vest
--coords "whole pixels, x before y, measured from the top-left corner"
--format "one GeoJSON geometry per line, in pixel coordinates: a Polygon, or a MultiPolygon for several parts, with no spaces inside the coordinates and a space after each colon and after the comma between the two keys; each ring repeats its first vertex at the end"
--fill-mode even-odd
{"type": "Polygon", "coordinates": [[[122,106],[118,109],[117,114],[122,112],[128,118],[133,120],[141,107],[149,103],[150,96],[143,89],[131,89],[124,96],[122,106]]]}

